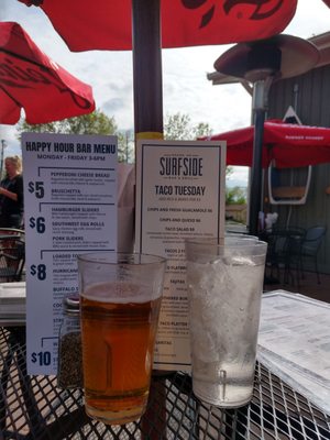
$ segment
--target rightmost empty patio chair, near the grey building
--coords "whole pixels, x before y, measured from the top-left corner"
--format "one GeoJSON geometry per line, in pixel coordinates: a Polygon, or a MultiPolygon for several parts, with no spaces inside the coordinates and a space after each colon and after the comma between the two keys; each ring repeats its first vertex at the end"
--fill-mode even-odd
{"type": "Polygon", "coordinates": [[[301,274],[301,278],[305,278],[305,267],[306,263],[311,262],[314,265],[315,272],[317,274],[318,284],[321,283],[320,274],[318,268],[318,253],[320,250],[320,245],[326,235],[327,227],[311,227],[307,230],[304,240],[301,241],[301,245],[298,253],[298,271],[301,274]]]}

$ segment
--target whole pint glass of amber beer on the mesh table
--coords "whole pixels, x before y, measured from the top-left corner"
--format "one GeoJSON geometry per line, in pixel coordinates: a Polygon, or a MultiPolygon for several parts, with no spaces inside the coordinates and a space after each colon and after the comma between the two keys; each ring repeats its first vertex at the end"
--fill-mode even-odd
{"type": "Polygon", "coordinates": [[[165,265],[138,253],[78,256],[85,407],[105,424],[145,411],[165,265]]]}

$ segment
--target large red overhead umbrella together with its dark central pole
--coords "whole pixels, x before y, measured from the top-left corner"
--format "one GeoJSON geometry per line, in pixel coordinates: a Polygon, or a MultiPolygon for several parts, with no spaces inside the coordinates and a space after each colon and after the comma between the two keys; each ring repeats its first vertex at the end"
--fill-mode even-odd
{"type": "Polygon", "coordinates": [[[282,32],[297,0],[19,0],[38,6],[72,51],[133,48],[135,132],[163,132],[161,47],[282,32]],[[161,35],[162,29],[162,35],[161,35]]]}

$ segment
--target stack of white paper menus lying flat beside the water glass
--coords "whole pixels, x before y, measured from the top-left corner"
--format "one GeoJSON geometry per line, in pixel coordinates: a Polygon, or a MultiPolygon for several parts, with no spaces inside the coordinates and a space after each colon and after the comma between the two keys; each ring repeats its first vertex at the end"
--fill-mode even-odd
{"type": "Polygon", "coordinates": [[[330,414],[330,305],[299,294],[263,295],[260,362],[330,414]]]}

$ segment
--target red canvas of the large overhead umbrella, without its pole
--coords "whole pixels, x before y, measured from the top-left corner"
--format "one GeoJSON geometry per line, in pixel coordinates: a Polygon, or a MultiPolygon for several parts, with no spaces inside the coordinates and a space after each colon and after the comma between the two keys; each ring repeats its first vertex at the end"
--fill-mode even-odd
{"type": "MultiPolygon", "coordinates": [[[[19,0],[40,6],[72,51],[131,50],[132,0],[19,0]]],[[[238,43],[280,33],[297,0],[161,0],[162,47],[238,43]]]]}

